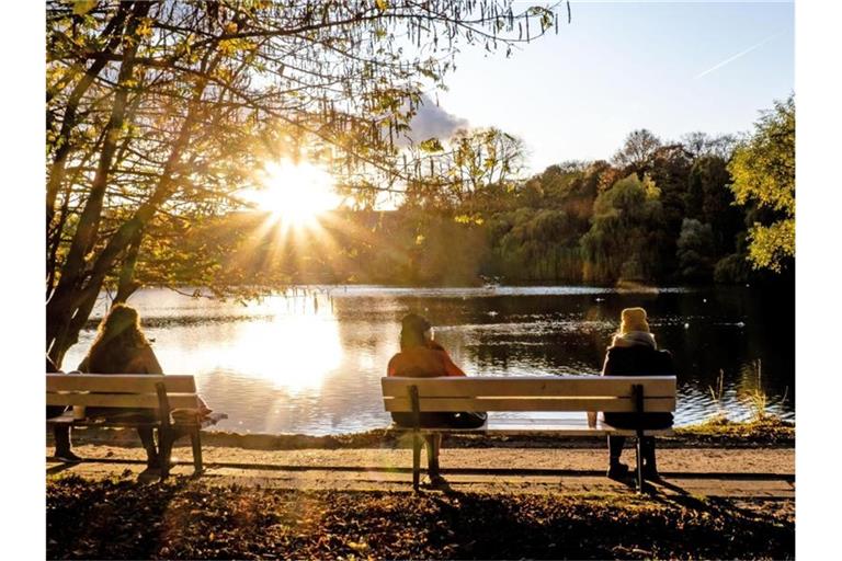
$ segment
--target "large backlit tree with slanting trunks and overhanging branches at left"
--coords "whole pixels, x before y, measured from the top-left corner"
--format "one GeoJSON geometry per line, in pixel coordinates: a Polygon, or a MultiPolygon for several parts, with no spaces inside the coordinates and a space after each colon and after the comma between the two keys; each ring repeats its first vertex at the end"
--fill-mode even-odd
{"type": "Polygon", "coordinates": [[[50,356],[60,364],[103,288],[125,300],[148,279],[271,284],[225,271],[218,243],[173,243],[241,207],[263,160],[322,161],[351,193],[400,191],[414,164],[396,141],[458,49],[510,51],[557,27],[556,7],[513,4],[48,2],[50,356]]]}

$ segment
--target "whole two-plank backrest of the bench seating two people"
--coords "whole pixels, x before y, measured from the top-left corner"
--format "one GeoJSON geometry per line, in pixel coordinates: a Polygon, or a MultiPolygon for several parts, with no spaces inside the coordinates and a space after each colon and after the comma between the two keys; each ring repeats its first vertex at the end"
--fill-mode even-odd
{"type": "Polygon", "coordinates": [[[383,378],[389,412],[411,412],[416,386],[421,411],[606,411],[634,412],[633,386],[644,386],[645,412],[675,411],[674,376],[568,376],[383,378]]]}

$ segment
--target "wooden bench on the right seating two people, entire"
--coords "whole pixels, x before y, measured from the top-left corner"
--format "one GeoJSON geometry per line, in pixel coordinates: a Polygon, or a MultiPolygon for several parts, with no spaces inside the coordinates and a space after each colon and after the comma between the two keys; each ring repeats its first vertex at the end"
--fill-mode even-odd
{"type": "Polygon", "coordinates": [[[566,436],[636,436],[637,484],[642,490],[644,436],[667,435],[672,430],[626,430],[607,425],[601,419],[591,426],[588,415],[581,421],[489,419],[479,428],[425,428],[420,426],[421,412],[520,411],[520,412],[612,412],[665,413],[675,411],[674,376],[542,376],[465,378],[382,379],[383,401],[388,412],[411,413],[414,426],[392,423],[391,431],[411,431],[412,486],[420,479],[422,435],[433,433],[479,433],[520,435],[554,433],[566,436]]]}

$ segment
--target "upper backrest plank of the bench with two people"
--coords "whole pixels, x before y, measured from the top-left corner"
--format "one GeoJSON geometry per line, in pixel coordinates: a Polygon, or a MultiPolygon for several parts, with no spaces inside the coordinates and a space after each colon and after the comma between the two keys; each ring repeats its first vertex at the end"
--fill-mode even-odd
{"type": "Polygon", "coordinates": [[[549,397],[601,396],[630,397],[632,386],[646,385],[646,396],[675,396],[674,376],[557,376],[557,377],[482,377],[465,378],[382,378],[385,398],[405,398],[410,386],[420,398],[471,398],[476,396],[549,397]]]}

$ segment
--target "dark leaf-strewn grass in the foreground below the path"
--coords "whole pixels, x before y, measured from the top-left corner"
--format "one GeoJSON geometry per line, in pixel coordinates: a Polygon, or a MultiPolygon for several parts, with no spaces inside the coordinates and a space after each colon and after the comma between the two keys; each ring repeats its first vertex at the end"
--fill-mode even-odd
{"type": "Polygon", "coordinates": [[[50,559],[792,559],[792,510],[691,496],[47,483],[50,559]]]}

